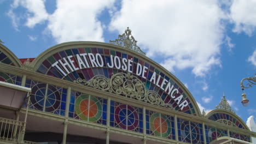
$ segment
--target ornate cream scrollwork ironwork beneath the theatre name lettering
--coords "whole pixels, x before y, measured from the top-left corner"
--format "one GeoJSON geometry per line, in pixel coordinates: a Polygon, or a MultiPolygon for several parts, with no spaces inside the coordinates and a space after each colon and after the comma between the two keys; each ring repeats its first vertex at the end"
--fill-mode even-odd
{"type": "Polygon", "coordinates": [[[74,82],[172,109],[171,104],[165,103],[155,91],[148,91],[145,87],[145,83],[130,73],[117,73],[110,78],[103,75],[96,75],[89,81],[78,78],[74,82]]]}

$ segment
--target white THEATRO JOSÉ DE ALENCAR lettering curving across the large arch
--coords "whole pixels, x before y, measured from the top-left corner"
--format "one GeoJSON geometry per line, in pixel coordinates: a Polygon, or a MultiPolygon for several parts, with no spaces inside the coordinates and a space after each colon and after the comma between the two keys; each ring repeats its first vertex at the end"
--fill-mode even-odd
{"type": "MultiPolygon", "coordinates": [[[[63,57],[51,66],[57,68],[60,71],[60,73],[64,76],[67,76],[69,73],[72,73],[73,71],[79,69],[100,67],[122,69],[124,71],[127,71],[128,73],[132,73],[133,59],[120,58],[118,56],[110,55],[109,62],[105,63],[100,53],[80,53],[75,56],[63,57]]],[[[143,79],[146,79],[145,74],[147,70],[148,67],[137,63],[137,76],[141,76],[143,79]]],[[[174,99],[174,101],[177,102],[181,110],[183,110],[184,107],[188,106],[188,101],[182,101],[182,94],[176,96],[176,93],[178,93],[178,89],[174,88],[174,86],[170,82],[168,82],[168,80],[166,80],[164,77],[161,77],[160,75],[154,72],[153,75],[150,77],[150,82],[154,83],[154,85],[161,88],[169,95],[169,97],[174,99]],[[162,81],[160,81],[160,79],[162,79],[162,81]]]]}

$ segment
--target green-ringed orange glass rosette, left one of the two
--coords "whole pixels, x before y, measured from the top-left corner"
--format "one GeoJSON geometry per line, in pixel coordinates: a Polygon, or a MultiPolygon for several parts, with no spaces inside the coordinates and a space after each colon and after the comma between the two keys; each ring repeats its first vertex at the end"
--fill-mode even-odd
{"type": "Polygon", "coordinates": [[[75,112],[79,118],[89,122],[96,122],[101,118],[102,106],[97,98],[87,94],[80,95],[75,100],[75,112]]]}

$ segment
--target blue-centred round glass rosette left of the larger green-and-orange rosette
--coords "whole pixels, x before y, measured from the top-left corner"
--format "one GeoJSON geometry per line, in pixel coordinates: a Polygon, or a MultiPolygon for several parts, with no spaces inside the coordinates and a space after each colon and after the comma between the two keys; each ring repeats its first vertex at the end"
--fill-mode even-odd
{"type": "Polygon", "coordinates": [[[45,99],[46,84],[39,83],[31,89],[31,103],[38,110],[43,110],[45,103],[45,111],[52,112],[59,108],[61,95],[54,86],[48,87],[47,97],[45,99]]]}

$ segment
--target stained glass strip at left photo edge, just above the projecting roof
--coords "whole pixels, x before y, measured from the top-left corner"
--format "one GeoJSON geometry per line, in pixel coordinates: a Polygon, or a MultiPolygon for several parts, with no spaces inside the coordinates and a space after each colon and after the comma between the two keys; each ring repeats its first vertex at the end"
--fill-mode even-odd
{"type": "Polygon", "coordinates": [[[22,78],[20,76],[0,72],[0,81],[8,82],[8,83],[20,86],[21,80],[22,80],[22,78]]]}

